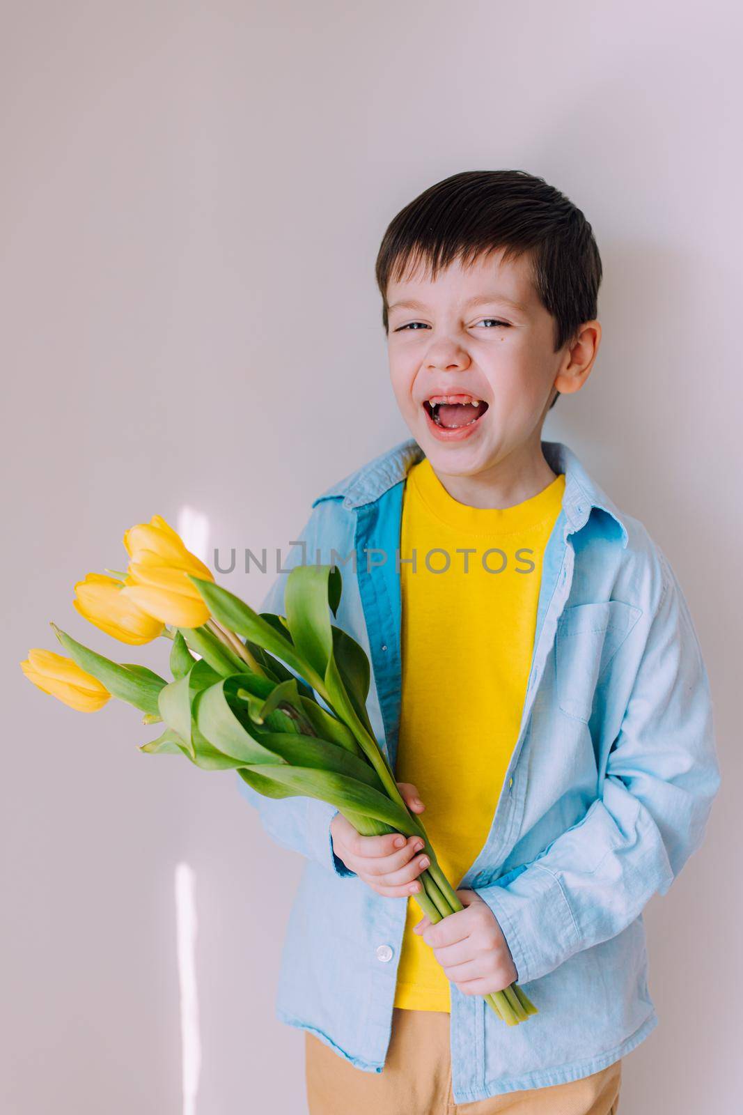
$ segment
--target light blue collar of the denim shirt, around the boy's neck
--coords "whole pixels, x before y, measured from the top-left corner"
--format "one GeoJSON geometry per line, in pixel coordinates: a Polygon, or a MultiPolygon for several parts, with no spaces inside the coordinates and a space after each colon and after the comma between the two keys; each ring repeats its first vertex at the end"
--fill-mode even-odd
{"type": "MultiPolygon", "coordinates": [[[[541,450],[553,472],[565,473],[563,493],[563,511],[567,521],[565,535],[583,530],[589,518],[603,531],[603,525],[606,524],[605,516],[608,515],[619,527],[622,545],[626,547],[627,527],[618,508],[590,478],[573,449],[563,442],[542,442],[541,450]],[[599,514],[592,517],[594,510],[599,514]]],[[[314,500],[312,506],[322,500],[333,498],[342,500],[343,506],[350,508],[373,503],[404,479],[408,471],[423,456],[418,442],[412,437],[408,438],[326,488],[314,500]]]]}

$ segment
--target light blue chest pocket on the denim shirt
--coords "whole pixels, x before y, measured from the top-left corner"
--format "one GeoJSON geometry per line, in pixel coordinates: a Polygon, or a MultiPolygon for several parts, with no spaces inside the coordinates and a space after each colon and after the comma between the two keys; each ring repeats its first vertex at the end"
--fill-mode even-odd
{"type": "Polygon", "coordinates": [[[566,716],[588,723],[598,681],[642,614],[642,608],[623,600],[563,609],[555,633],[555,673],[558,705],[566,716]]]}

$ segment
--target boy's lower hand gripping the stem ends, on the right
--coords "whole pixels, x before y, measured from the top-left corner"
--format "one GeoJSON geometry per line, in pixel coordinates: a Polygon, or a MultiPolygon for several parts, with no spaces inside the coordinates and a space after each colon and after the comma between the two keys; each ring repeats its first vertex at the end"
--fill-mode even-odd
{"type": "Polygon", "coordinates": [[[518,972],[498,919],[475,891],[457,891],[465,906],[432,925],[424,917],[413,933],[433,949],[447,979],[462,995],[492,995],[510,987],[518,972]]]}

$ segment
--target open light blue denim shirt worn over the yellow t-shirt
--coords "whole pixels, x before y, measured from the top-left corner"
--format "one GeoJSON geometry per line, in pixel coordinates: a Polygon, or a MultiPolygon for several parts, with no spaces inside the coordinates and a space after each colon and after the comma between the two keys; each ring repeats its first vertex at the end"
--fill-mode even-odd
{"type": "MultiPolygon", "coordinates": [[[[700,847],[720,784],[708,679],[667,559],[567,446],[541,447],[566,481],[520,729],[487,841],[451,880],[496,914],[539,1012],[507,1027],[450,983],[458,1104],[597,1073],[655,1028],[642,911],[700,847]]],[[[371,660],[368,708],[393,768],[402,493],[422,456],[409,439],[317,496],[283,566],[340,568],[336,622],[371,660]]],[[[262,611],[283,614],[285,581],[280,573],[262,611]]],[[[267,833],[306,857],[276,1016],[381,1073],[407,899],[377,894],[334,855],[333,806],[263,797],[242,779],[239,789],[267,833]]]]}

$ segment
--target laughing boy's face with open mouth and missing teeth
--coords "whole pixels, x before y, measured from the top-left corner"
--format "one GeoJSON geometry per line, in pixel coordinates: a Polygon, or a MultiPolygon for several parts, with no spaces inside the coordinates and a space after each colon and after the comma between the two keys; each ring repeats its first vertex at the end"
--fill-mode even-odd
{"type": "Polygon", "coordinates": [[[553,388],[577,390],[593,363],[576,375],[568,346],[554,351],[555,320],[527,256],[504,263],[501,255],[466,269],[456,261],[434,282],[409,271],[387,291],[398,406],[433,467],[449,475],[473,476],[515,450],[539,452],[553,388]],[[431,398],[441,400],[438,411],[431,398]]]}

